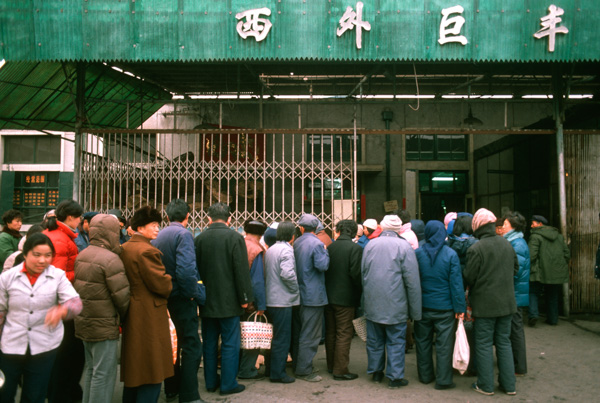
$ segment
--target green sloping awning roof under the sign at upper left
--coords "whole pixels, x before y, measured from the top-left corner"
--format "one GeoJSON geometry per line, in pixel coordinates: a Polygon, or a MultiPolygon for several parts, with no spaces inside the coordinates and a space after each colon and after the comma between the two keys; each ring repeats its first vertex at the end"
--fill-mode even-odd
{"type": "MultiPolygon", "coordinates": [[[[0,130],[75,131],[75,87],[72,63],[7,62],[0,69],[0,130]]],[[[95,64],[87,67],[86,99],[84,128],[136,128],[171,94],[95,64]]]]}

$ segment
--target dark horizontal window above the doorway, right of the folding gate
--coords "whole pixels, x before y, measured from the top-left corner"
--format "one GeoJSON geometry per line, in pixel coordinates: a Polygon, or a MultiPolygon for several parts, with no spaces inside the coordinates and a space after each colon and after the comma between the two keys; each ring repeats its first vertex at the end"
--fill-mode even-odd
{"type": "Polygon", "coordinates": [[[466,161],[467,136],[463,134],[409,134],[406,159],[410,161],[466,161]]]}

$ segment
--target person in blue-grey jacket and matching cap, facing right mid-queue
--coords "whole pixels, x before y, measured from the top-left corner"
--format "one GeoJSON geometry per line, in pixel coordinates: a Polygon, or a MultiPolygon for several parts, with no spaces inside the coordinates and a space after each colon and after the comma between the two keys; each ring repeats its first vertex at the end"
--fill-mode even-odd
{"type": "Polygon", "coordinates": [[[294,257],[300,286],[300,329],[294,329],[292,359],[296,376],[308,382],[323,378],[313,372],[312,360],[317,354],[323,331],[323,314],[327,305],[325,272],[329,255],[315,235],[317,217],[304,214],[298,221],[302,236],[294,242],[294,257]]]}

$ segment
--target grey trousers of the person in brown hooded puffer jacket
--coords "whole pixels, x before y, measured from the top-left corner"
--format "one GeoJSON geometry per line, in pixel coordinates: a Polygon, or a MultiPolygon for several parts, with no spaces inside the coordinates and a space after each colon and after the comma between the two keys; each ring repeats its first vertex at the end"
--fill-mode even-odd
{"type": "Polygon", "coordinates": [[[117,380],[119,340],[84,341],[82,403],[111,403],[117,380]]]}

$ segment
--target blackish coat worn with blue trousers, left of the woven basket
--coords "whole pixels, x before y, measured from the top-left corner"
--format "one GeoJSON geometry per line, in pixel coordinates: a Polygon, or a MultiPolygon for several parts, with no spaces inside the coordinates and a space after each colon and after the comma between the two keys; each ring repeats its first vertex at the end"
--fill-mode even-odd
{"type": "Polygon", "coordinates": [[[225,223],[209,225],[194,239],[196,263],[206,286],[204,318],[230,318],[244,313],[254,300],[246,243],[225,223]]]}

